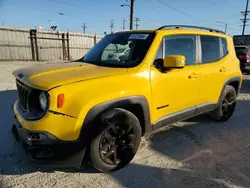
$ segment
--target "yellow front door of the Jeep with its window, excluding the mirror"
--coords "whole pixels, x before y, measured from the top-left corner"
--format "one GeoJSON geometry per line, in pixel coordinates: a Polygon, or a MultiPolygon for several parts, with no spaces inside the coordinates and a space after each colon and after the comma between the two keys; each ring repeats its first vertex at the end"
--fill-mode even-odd
{"type": "Polygon", "coordinates": [[[163,59],[168,55],[184,55],[186,60],[184,68],[173,68],[165,72],[152,65],[154,124],[164,125],[195,114],[196,105],[199,104],[201,82],[196,54],[195,35],[171,35],[163,38],[156,59],[163,59]]]}

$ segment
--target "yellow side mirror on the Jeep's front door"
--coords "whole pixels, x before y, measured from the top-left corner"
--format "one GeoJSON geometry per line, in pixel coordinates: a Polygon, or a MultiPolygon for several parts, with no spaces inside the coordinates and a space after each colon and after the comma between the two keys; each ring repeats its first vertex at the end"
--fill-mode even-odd
{"type": "Polygon", "coordinates": [[[164,68],[183,68],[185,66],[185,56],[183,55],[169,55],[165,56],[164,62],[163,62],[163,67],[164,68]]]}

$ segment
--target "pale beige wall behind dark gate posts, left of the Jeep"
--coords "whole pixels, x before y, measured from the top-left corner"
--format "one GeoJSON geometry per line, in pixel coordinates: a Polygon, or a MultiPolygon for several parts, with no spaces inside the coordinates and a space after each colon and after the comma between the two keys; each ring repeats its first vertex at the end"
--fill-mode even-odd
{"type": "MultiPolygon", "coordinates": [[[[30,30],[24,28],[0,27],[0,61],[12,60],[75,60],[81,58],[103,36],[69,32],[69,44],[65,40],[66,57],[63,54],[63,32],[37,30],[33,46],[30,30]],[[37,48],[36,45],[37,44],[37,48]],[[67,49],[69,46],[69,50],[67,49]],[[32,56],[32,49],[35,56],[32,56]],[[37,51],[36,51],[37,50],[37,51]],[[68,52],[69,51],[69,57],[68,52]]],[[[65,33],[66,38],[66,33],[65,33]]],[[[34,38],[33,38],[34,39],[34,38]]]]}

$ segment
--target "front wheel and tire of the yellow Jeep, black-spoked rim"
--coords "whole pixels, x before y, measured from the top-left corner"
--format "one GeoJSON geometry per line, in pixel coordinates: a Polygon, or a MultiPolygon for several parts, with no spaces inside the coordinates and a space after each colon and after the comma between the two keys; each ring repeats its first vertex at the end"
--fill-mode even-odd
{"type": "Polygon", "coordinates": [[[135,156],[141,141],[137,117],[124,109],[112,109],[99,119],[100,130],[90,144],[90,161],[102,172],[126,166],[135,156]]]}

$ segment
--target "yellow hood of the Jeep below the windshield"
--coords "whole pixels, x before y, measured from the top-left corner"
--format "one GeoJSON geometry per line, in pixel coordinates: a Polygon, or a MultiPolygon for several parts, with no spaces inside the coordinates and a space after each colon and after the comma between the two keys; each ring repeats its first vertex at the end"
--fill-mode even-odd
{"type": "Polygon", "coordinates": [[[49,90],[64,84],[112,76],[126,71],[126,68],[102,67],[84,62],[72,62],[21,68],[15,70],[13,75],[30,87],[49,90]]]}

